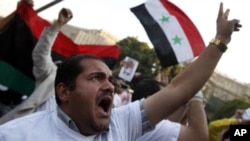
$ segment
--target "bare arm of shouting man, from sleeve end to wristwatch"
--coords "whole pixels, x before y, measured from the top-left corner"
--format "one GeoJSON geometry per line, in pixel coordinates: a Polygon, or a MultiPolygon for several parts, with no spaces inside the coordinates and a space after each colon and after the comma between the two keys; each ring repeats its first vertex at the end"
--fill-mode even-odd
{"type": "Polygon", "coordinates": [[[222,52],[209,44],[199,58],[183,70],[163,90],[147,98],[144,102],[152,125],[169,116],[185,105],[205,84],[213,73],[222,52]],[[155,109],[164,109],[159,113],[155,109]]]}

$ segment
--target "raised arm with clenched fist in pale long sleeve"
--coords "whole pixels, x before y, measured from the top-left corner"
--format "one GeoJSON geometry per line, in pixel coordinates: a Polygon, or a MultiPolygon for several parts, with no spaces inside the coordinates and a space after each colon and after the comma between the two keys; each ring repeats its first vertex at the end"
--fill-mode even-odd
{"type": "MultiPolygon", "coordinates": [[[[26,1],[32,2],[31,0],[21,2],[26,1]]],[[[56,102],[53,85],[57,66],[51,58],[51,50],[61,27],[67,24],[71,19],[71,10],[63,8],[60,10],[58,19],[52,24],[52,26],[47,26],[43,29],[43,32],[32,51],[34,65],[33,75],[36,81],[35,90],[27,100],[23,101],[16,108],[1,117],[0,124],[30,113],[55,110],[56,102]]]]}

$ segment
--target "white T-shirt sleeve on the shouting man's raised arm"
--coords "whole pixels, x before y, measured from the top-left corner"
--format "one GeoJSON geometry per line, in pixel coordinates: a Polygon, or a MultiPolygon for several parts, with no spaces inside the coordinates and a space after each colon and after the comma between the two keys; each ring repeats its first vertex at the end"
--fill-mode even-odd
{"type": "Polygon", "coordinates": [[[119,136],[122,140],[134,141],[152,129],[142,103],[143,101],[135,101],[113,109],[110,128],[118,130],[115,131],[115,136],[119,136]]]}

